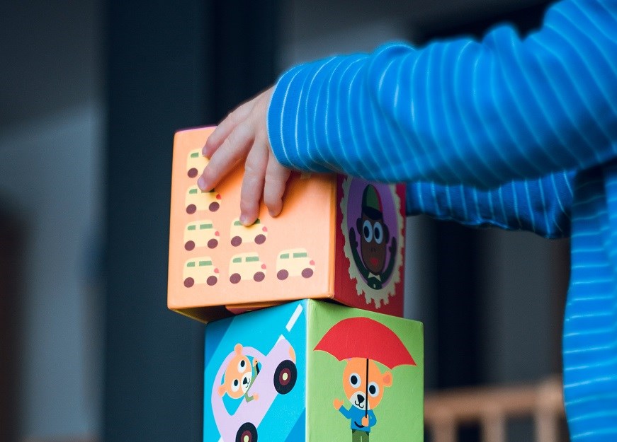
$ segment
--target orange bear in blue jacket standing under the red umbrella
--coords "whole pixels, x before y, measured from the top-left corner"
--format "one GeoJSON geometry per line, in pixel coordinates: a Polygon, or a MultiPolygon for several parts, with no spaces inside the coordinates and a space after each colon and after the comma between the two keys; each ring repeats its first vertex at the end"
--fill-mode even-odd
{"type": "Polygon", "coordinates": [[[364,358],[347,359],[343,371],[343,390],[351,407],[346,409],[343,400],[334,399],[334,408],[351,419],[351,441],[368,442],[370,429],[377,424],[375,409],[386,387],[392,385],[392,373],[381,373],[375,361],[364,358]],[[368,373],[368,386],[367,384],[368,373]],[[368,393],[368,396],[367,396],[368,393]]]}

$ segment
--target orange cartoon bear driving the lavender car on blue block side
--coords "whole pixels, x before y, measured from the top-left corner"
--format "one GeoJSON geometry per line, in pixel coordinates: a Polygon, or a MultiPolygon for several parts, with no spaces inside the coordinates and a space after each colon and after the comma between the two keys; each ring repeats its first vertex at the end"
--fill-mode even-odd
{"type": "Polygon", "coordinates": [[[225,393],[233,399],[244,396],[244,400],[251,402],[257,400],[257,395],[249,395],[249,389],[253,385],[256,376],[259,374],[257,359],[253,363],[242,353],[242,344],[234,347],[234,357],[225,368],[223,383],[218,388],[218,394],[223,397],[225,393]]]}

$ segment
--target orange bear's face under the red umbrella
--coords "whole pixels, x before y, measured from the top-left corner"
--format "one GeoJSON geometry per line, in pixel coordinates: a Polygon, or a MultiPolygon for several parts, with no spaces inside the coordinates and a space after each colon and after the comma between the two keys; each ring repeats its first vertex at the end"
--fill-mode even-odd
{"type": "Polygon", "coordinates": [[[392,385],[392,373],[381,373],[375,361],[368,360],[368,388],[366,359],[347,359],[343,371],[343,389],[349,402],[359,409],[374,409],[379,405],[386,387],[392,385]],[[366,394],[368,392],[368,398],[366,394]]]}

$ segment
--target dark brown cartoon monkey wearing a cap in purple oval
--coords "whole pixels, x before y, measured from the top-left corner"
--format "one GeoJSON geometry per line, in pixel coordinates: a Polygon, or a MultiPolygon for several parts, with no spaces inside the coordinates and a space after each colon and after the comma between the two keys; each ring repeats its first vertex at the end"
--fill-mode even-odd
{"type": "Polygon", "coordinates": [[[372,289],[380,290],[383,283],[390,278],[394,269],[397,241],[393,236],[390,247],[390,231],[383,222],[383,207],[377,189],[367,185],[362,194],[362,213],[356,221],[360,233],[360,253],[358,241],[353,227],[349,229],[349,242],[353,261],[360,274],[366,279],[366,284],[372,289]],[[385,265],[386,249],[390,250],[390,261],[385,265]],[[384,269],[385,267],[385,269],[384,269]]]}

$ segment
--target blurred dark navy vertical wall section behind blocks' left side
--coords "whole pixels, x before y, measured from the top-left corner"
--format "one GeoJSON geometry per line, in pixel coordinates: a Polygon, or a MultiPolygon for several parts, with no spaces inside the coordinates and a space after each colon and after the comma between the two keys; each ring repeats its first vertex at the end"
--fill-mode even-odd
{"type": "Polygon", "coordinates": [[[108,1],[103,441],[201,440],[204,327],[166,308],[171,146],[273,82],[274,11],[108,1]]]}

